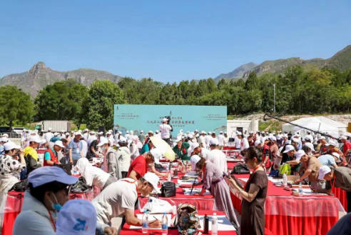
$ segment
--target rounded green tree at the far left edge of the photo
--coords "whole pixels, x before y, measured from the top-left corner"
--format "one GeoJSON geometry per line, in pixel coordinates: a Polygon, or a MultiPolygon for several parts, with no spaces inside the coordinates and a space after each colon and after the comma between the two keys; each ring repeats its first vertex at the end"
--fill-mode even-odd
{"type": "Polygon", "coordinates": [[[16,86],[0,86],[0,124],[25,125],[32,120],[34,104],[31,96],[16,86]]]}

